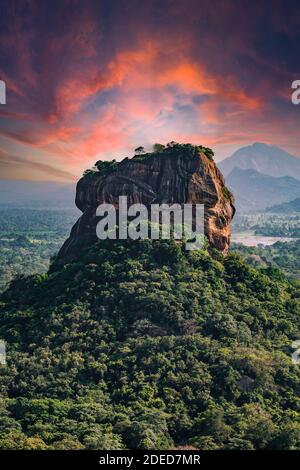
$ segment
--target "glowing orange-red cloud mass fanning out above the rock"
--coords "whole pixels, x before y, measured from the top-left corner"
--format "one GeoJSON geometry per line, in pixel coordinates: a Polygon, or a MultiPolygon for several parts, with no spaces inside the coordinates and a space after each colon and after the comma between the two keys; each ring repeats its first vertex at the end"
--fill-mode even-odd
{"type": "Polygon", "coordinates": [[[105,60],[94,20],[87,15],[80,25],[77,33],[70,27],[49,40],[41,80],[29,54],[31,36],[25,38],[18,68],[27,78],[23,87],[9,84],[14,106],[2,114],[3,136],[39,148],[46,160],[54,155],[74,172],[95,158],[121,156],[157,140],[207,145],[266,140],[257,129],[267,111],[261,90],[249,93],[232,74],[196,60],[192,41],[143,36],[105,60]]]}

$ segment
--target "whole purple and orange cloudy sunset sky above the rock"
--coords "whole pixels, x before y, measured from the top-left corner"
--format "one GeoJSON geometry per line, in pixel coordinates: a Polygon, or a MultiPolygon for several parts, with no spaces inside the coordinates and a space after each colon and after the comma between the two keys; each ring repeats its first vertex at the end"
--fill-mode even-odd
{"type": "Polygon", "coordinates": [[[1,0],[0,178],[72,181],[171,140],[300,156],[298,1],[1,0]]]}

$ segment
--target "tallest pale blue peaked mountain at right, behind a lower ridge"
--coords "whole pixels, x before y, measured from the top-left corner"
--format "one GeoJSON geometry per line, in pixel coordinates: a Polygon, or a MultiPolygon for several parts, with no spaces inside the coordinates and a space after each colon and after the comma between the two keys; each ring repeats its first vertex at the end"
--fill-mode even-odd
{"type": "Polygon", "coordinates": [[[292,176],[300,180],[300,158],[279,147],[260,143],[240,148],[231,157],[218,163],[218,167],[224,176],[229,175],[233,168],[237,167],[243,170],[256,170],[269,176],[292,176]]]}

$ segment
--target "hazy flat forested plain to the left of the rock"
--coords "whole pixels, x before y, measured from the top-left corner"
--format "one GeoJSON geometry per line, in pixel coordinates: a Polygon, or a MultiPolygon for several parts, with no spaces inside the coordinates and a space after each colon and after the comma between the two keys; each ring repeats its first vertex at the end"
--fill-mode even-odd
{"type": "Polygon", "coordinates": [[[0,292],[17,275],[47,272],[77,209],[0,208],[0,292]]]}

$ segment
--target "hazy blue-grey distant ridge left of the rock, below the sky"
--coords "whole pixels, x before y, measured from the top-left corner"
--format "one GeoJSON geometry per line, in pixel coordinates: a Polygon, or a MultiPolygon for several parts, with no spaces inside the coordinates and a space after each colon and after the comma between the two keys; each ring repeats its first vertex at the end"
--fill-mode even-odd
{"type": "Polygon", "coordinates": [[[0,180],[0,205],[75,207],[75,184],[52,181],[0,180]]]}

